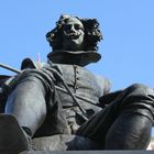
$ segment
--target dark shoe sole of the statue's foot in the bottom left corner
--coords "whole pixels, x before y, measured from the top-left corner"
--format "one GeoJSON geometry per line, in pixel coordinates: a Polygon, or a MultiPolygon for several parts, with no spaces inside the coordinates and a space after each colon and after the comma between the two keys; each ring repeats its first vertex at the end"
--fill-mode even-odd
{"type": "Polygon", "coordinates": [[[0,114],[0,153],[18,154],[29,150],[30,143],[12,114],[0,114]]]}

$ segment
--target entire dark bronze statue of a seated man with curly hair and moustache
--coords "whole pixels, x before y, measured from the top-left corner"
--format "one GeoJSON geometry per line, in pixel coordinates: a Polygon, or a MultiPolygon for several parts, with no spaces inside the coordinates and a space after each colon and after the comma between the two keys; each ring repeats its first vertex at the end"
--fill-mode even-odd
{"type": "MultiPolygon", "coordinates": [[[[10,81],[4,114],[13,116],[23,133],[19,151],[33,150],[31,142],[36,150],[51,150],[57,135],[75,141],[66,150],[146,148],[154,119],[153,89],[134,84],[109,92],[110,81],[84,67],[101,58],[98,21],[61,15],[46,38],[53,48],[48,62],[36,69],[25,59],[22,73],[10,81]],[[77,146],[77,140],[86,147],[77,146]]],[[[1,140],[0,144],[4,146],[1,140]]]]}

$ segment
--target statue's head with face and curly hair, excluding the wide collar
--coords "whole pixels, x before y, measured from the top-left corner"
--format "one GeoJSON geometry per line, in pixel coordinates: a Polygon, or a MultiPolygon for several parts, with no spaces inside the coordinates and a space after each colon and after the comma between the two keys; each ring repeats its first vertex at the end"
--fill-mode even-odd
{"type": "Polygon", "coordinates": [[[53,51],[97,51],[97,43],[102,35],[96,19],[79,19],[64,14],[56,22],[56,28],[46,34],[46,38],[53,51]],[[80,43],[79,46],[76,43],[80,43]],[[79,50],[73,48],[75,44],[79,50]]]}

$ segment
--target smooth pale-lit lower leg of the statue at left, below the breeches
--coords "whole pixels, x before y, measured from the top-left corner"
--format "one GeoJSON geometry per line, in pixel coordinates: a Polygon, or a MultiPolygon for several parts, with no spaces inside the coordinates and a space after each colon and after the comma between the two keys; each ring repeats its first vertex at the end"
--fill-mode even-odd
{"type": "Polygon", "coordinates": [[[10,94],[6,113],[13,114],[28,135],[32,136],[46,116],[45,88],[34,77],[23,77],[10,94]]]}

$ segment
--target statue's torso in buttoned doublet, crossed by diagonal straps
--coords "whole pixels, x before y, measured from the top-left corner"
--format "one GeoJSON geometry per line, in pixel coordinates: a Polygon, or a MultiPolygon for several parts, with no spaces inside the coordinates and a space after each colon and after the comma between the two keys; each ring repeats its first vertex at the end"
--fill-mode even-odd
{"type": "MultiPolygon", "coordinates": [[[[98,103],[99,98],[103,96],[109,88],[107,87],[109,81],[106,78],[99,78],[95,76],[85,67],[64,64],[58,64],[58,67],[61,68],[63,77],[67,82],[70,91],[89,100],[92,100],[94,102],[96,102],[96,105],[98,103]]],[[[64,88],[62,84],[57,84],[57,86],[64,88]]],[[[81,122],[78,121],[77,112],[81,114],[81,111],[76,105],[74,105],[72,97],[61,91],[58,91],[58,96],[68,123],[73,125],[80,125],[81,122]]],[[[92,114],[101,110],[95,105],[90,105],[89,102],[80,99],[77,100],[81,108],[86,111],[88,117],[91,117],[92,114]]]]}

